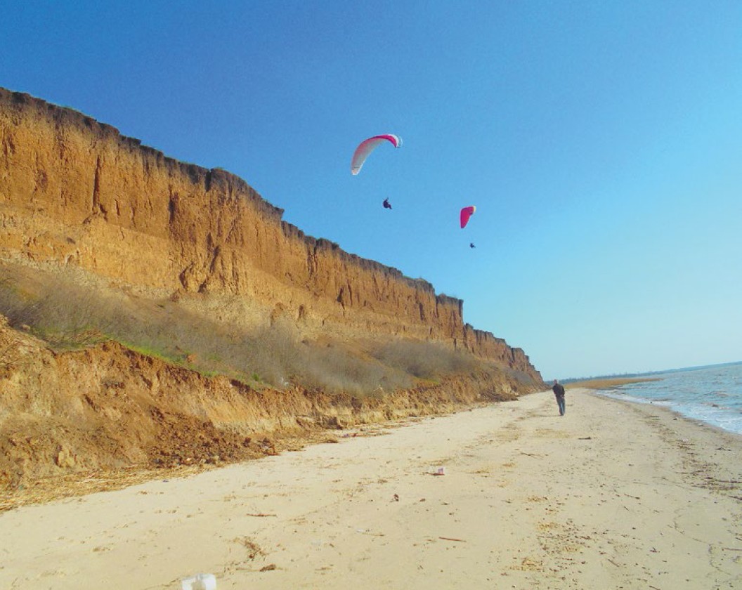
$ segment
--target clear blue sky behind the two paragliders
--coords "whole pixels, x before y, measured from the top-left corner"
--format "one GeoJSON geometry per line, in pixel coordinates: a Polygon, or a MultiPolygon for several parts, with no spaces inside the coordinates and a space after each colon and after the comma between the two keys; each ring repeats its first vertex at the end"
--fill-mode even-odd
{"type": "Polygon", "coordinates": [[[742,360],[741,1],[10,2],[0,85],[237,174],[545,378],[742,360]]]}

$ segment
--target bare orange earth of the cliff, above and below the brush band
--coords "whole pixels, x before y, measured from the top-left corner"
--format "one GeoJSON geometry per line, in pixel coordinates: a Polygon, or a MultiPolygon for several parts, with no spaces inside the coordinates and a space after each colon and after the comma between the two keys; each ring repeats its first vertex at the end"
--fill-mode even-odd
{"type": "Polygon", "coordinates": [[[369,338],[440,342],[488,361],[381,395],[298,383],[274,390],[114,341],[51,350],[0,316],[0,492],[12,498],[0,509],[25,501],[25,484],[50,477],[245,459],[275,452],[287,436],[542,386],[523,350],[464,323],[459,299],[304,235],[282,216],[234,174],[178,162],[77,111],[0,89],[6,283],[11,267],[59,273],[133,294],[138,304],[168,298],[217,325],[280,321],[302,339],[349,349],[369,338]]]}

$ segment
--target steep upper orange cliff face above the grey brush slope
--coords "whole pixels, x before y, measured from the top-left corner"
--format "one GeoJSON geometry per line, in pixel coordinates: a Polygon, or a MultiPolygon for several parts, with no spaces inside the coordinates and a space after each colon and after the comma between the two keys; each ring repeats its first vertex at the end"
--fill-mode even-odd
{"type": "Polygon", "coordinates": [[[221,319],[280,316],[308,337],[447,341],[541,381],[522,350],[464,324],[462,301],[306,236],[282,214],[233,174],[0,89],[0,258],[79,267],[159,295],[237,301],[218,306],[221,319]]]}

